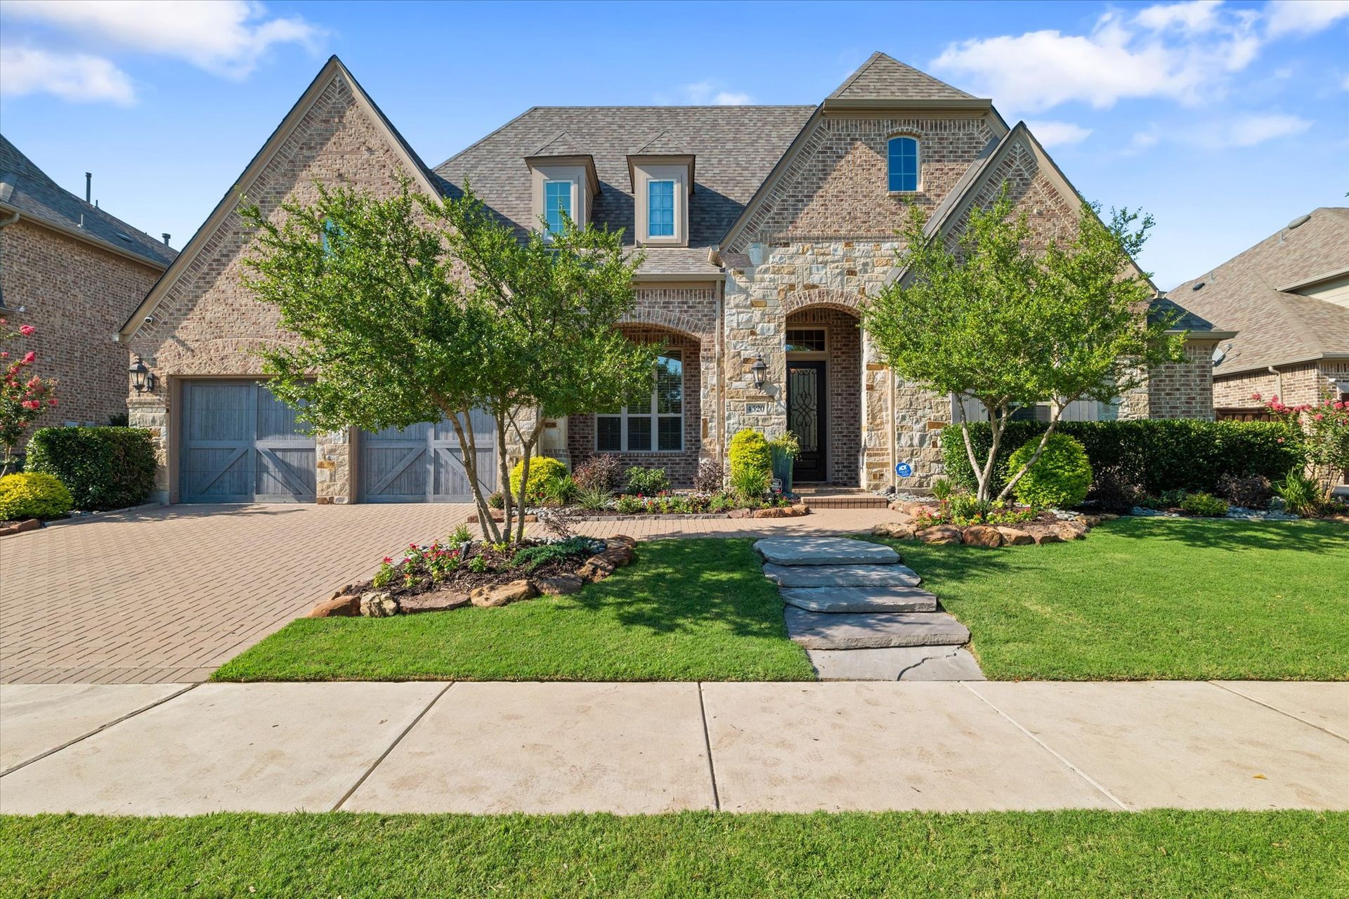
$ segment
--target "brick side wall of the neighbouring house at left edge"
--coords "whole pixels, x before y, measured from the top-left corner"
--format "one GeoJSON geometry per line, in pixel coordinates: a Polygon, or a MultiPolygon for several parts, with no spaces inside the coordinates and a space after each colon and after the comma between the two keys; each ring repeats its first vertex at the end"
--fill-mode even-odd
{"type": "Polygon", "coordinates": [[[38,329],[5,349],[35,352],[36,372],[57,381],[58,406],[34,427],[127,412],[130,357],[115,334],[161,271],[27,218],[0,228],[0,292],[15,310],[0,315],[38,329]]]}

